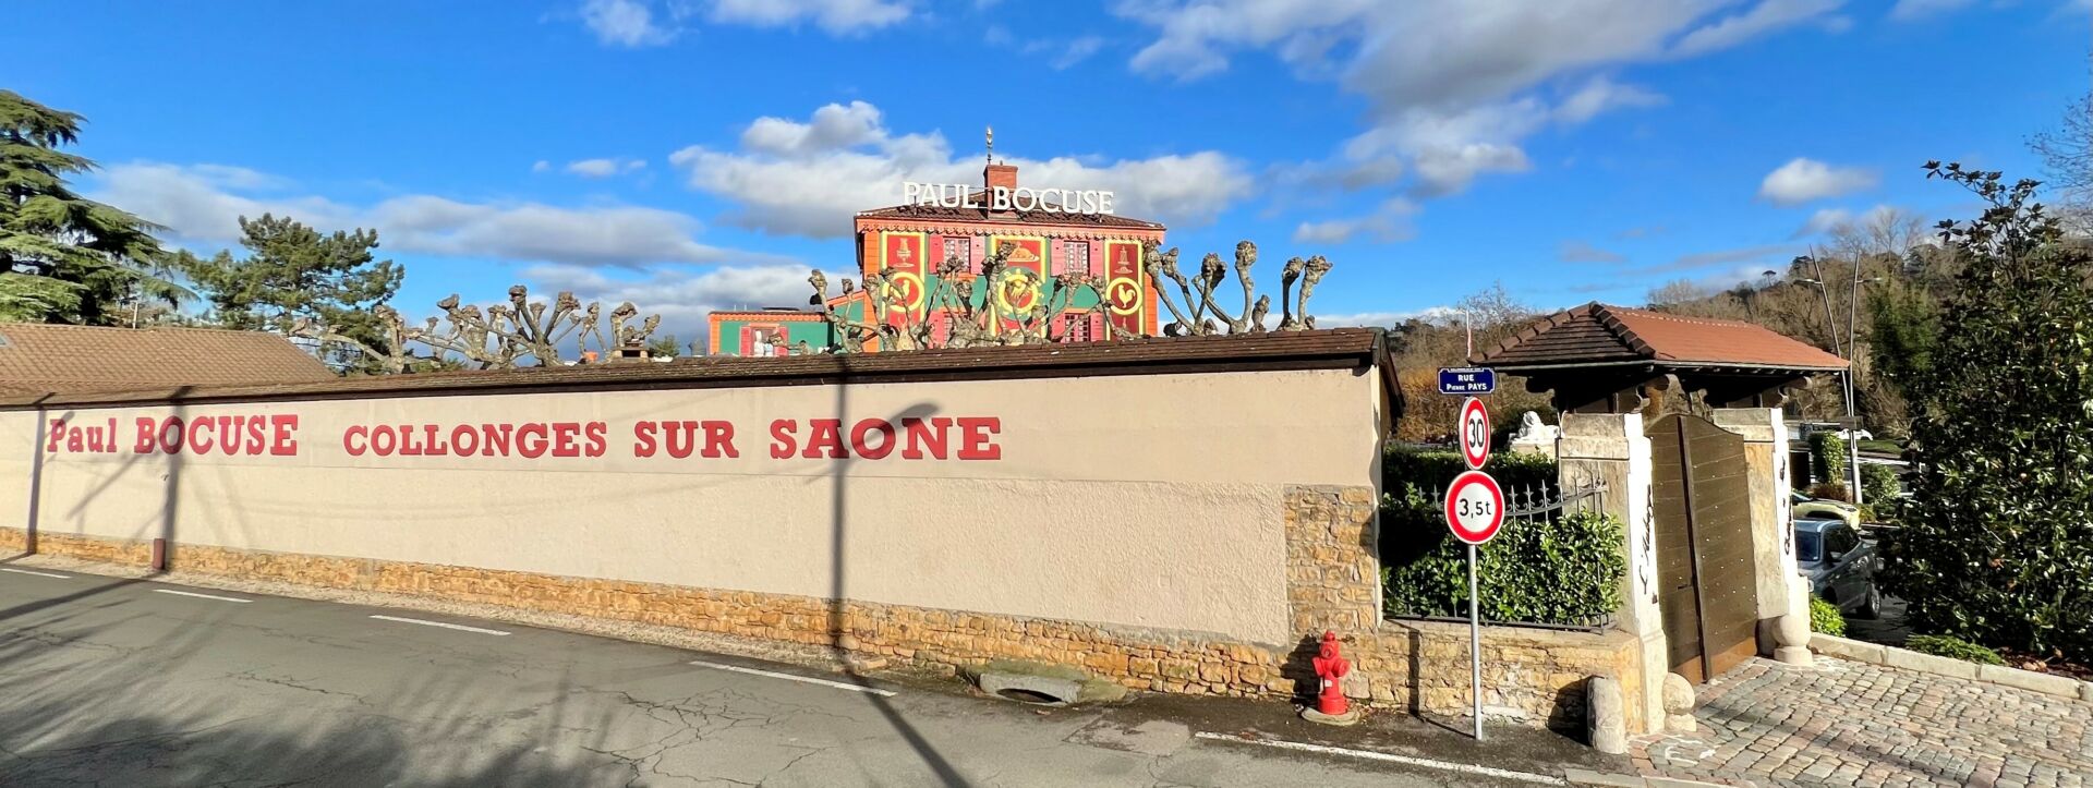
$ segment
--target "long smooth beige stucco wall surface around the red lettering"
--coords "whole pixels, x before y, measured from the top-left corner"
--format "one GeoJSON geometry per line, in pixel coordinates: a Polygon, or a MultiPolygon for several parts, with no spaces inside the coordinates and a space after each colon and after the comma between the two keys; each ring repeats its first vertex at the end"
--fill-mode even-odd
{"type": "MultiPolygon", "coordinates": [[[[1375,485],[1350,370],[0,412],[0,525],[1287,642],[1285,485],[1375,485]],[[295,456],[134,454],[136,418],[297,414],[295,456]],[[996,418],[996,460],[770,456],[793,418],[996,418]],[[50,418],[113,454],[42,454],[50,418]],[[634,456],[726,420],[739,458],[634,456]],[[356,424],[603,422],[588,458],[352,456],[356,424]],[[42,426],[40,426],[42,424],[42,426]],[[40,464],[40,470],[36,470],[40,464]]],[[[586,443],[586,441],[584,441],[586,443]]]]}

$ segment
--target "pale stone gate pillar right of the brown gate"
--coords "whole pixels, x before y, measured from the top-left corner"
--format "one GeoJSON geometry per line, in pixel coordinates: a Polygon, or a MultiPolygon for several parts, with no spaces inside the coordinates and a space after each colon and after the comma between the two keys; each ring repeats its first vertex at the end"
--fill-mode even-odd
{"type": "Polygon", "coordinates": [[[1716,426],[1743,435],[1752,495],[1752,566],[1758,579],[1758,652],[1808,665],[1808,585],[1796,564],[1787,491],[1787,424],[1779,408],[1716,408],[1716,426]],[[1783,619],[1787,623],[1783,633],[1783,619]]]}

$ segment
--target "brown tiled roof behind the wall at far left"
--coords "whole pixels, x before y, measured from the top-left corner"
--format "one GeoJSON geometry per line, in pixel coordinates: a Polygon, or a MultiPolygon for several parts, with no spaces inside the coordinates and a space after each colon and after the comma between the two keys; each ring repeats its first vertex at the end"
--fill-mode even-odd
{"type": "Polygon", "coordinates": [[[291,341],[253,330],[0,324],[0,395],[90,393],[335,374],[291,341]]]}

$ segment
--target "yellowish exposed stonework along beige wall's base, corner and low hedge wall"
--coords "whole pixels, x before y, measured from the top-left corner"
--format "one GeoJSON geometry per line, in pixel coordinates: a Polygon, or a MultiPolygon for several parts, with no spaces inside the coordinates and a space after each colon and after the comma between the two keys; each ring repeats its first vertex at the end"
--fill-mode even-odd
{"type": "MultiPolygon", "coordinates": [[[[1132,690],[1306,698],[1319,688],[1308,658],[1325,629],[1356,665],[1346,694],[1367,706],[1457,717],[1469,711],[1467,627],[1381,621],[1371,487],[1287,487],[1289,644],[1256,644],[1197,631],[1160,631],[1059,619],[1026,619],[856,600],[559,577],[370,558],[170,546],[167,569],[216,577],[408,594],[454,602],[586,615],[877,654],[921,667],[1021,658],[1082,667],[1132,690]]],[[[21,552],[27,533],[0,529],[0,548],[21,552]]],[[[38,552],[142,566],[151,541],[38,533],[38,552]]],[[[1635,635],[1520,627],[1484,629],[1484,711],[1492,719],[1574,729],[1584,679],[1612,675],[1637,698],[1635,635]]]]}

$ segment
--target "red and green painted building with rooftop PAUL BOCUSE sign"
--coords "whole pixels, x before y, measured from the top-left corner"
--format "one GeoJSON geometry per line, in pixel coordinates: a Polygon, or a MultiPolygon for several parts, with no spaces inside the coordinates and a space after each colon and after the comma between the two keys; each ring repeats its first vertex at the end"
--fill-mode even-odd
{"type": "MultiPolygon", "coordinates": [[[[994,209],[990,194],[1015,192],[1017,167],[992,163],[982,171],[982,190],[973,192],[963,207],[948,205],[894,205],[860,211],[854,219],[858,240],[858,278],[892,268],[896,286],[902,293],[904,309],[915,309],[915,318],[942,324],[938,316],[925,316],[927,293],[940,286],[938,268],[948,257],[967,261],[967,272],[954,288],[967,295],[975,307],[990,297],[988,284],[980,280],[982,261],[990,251],[1011,245],[1011,268],[1028,268],[1038,276],[1032,288],[1000,293],[1007,309],[1028,309],[1034,299],[1059,303],[1055,276],[1088,274],[1097,276],[1103,288],[1105,307],[1099,307],[1099,293],[1078,288],[1070,295],[1051,334],[1061,341],[1080,343],[1109,337],[1107,322],[1126,332],[1155,334],[1157,303],[1155,282],[1141,268],[1143,249],[1164,242],[1164,226],[1155,222],[1130,219],[1113,213],[1074,213],[1051,207],[1036,209],[994,209]]],[[[869,322],[869,293],[856,291],[831,297],[829,309],[841,318],[869,322]]],[[[760,311],[714,311],[710,316],[714,355],[772,355],[781,353],[772,337],[783,337],[789,351],[797,343],[812,349],[837,347],[835,328],[818,311],[802,309],[760,309],[760,311]]],[[[877,349],[877,341],[867,343],[877,349]]]]}

